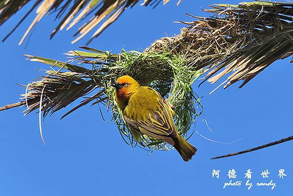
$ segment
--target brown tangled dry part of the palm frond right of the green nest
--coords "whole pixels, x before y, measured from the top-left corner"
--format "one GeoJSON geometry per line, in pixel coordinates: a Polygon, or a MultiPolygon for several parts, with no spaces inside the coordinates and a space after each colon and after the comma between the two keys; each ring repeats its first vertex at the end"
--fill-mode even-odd
{"type": "Polygon", "coordinates": [[[181,35],[157,40],[148,50],[169,48],[184,56],[189,65],[207,73],[203,82],[213,84],[230,74],[220,84],[226,84],[224,88],[240,80],[243,87],[276,60],[293,54],[293,2],[211,7],[214,9],[205,11],[215,14],[213,17],[194,17],[200,20],[185,22],[189,26],[181,35]]]}

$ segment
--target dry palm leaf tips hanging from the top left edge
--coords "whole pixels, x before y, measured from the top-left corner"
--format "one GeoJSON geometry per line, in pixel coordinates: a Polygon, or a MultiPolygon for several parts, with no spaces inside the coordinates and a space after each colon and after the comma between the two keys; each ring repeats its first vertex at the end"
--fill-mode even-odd
{"type": "MultiPolygon", "coordinates": [[[[0,25],[6,22],[12,15],[14,15],[18,10],[20,10],[25,4],[30,0],[0,0],[0,25]]],[[[32,28],[40,22],[43,16],[48,15],[53,12],[58,12],[56,19],[61,19],[65,15],[58,26],[53,30],[51,34],[51,39],[57,33],[58,30],[69,30],[75,24],[87,18],[91,13],[94,16],[88,21],[84,22],[83,25],[76,32],[75,36],[80,34],[72,43],[75,43],[82,39],[87,33],[93,30],[102,21],[103,24],[96,30],[92,35],[91,39],[87,42],[91,42],[94,38],[98,37],[110,24],[115,22],[119,16],[128,7],[133,7],[139,0],[35,0],[31,9],[23,16],[21,21],[14,27],[14,29],[7,35],[2,41],[5,41],[15,29],[24,21],[24,19],[37,7],[37,16],[31,25],[28,27],[27,31],[24,33],[19,44],[22,44],[24,39],[27,37],[28,33],[32,28]]],[[[162,0],[144,0],[142,5],[147,6],[148,4],[156,6],[162,0]]],[[[169,0],[164,0],[164,5],[169,0]]],[[[177,5],[181,0],[178,1],[177,5]]]]}

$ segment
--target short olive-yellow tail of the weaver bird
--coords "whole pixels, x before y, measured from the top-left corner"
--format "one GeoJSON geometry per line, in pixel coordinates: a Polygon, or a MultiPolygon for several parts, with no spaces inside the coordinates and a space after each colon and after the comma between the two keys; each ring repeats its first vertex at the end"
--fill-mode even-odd
{"type": "Polygon", "coordinates": [[[189,161],[195,154],[197,149],[188,143],[183,137],[178,134],[178,145],[174,145],[174,148],[179,152],[184,161],[189,161]]]}

